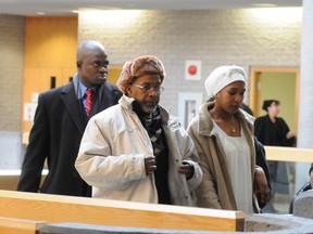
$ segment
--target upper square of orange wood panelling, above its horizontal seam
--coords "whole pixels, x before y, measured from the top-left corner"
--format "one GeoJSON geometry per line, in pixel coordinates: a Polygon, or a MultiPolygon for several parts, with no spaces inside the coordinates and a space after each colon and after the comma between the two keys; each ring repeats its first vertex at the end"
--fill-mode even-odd
{"type": "Polygon", "coordinates": [[[25,67],[75,67],[76,17],[28,17],[25,67]]]}

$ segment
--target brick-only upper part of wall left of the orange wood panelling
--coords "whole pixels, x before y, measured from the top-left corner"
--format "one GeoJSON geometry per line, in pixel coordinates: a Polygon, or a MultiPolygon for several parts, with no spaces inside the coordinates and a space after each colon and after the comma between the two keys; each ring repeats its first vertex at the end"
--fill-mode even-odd
{"type": "Polygon", "coordinates": [[[21,131],[25,17],[0,14],[0,130],[21,131]]]}

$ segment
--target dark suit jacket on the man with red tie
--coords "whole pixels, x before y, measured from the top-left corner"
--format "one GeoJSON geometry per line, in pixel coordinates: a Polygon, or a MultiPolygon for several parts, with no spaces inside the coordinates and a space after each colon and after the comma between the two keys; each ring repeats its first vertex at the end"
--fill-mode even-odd
{"type": "MultiPolygon", "coordinates": [[[[74,167],[88,121],[82,100],[76,98],[75,87],[77,86],[74,86],[73,80],[39,95],[17,191],[91,195],[90,186],[74,167]],[[42,187],[39,187],[46,159],[49,173],[42,187]]],[[[121,96],[122,93],[115,86],[105,82],[99,89],[90,117],[116,104],[121,96]]]]}

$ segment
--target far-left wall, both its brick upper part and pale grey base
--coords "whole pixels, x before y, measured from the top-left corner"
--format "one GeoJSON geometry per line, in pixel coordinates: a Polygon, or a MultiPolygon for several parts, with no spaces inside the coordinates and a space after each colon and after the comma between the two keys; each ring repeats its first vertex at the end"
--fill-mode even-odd
{"type": "Polygon", "coordinates": [[[21,144],[25,17],[0,14],[0,169],[16,169],[21,144]]]}

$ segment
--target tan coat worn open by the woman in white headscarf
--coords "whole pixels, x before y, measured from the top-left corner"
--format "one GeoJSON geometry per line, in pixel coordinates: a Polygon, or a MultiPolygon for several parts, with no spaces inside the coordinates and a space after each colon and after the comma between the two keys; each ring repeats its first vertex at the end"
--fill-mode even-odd
{"type": "MultiPolygon", "coordinates": [[[[231,188],[230,177],[227,169],[226,156],[220,139],[213,130],[213,122],[209,109],[214,103],[204,103],[188,126],[188,133],[192,138],[200,157],[203,180],[196,190],[198,205],[205,208],[237,210],[235,195],[231,188]]],[[[251,174],[254,174],[255,151],[253,143],[254,117],[239,109],[236,114],[247,138],[251,155],[251,174]]],[[[253,178],[252,178],[253,182],[253,178]]],[[[252,184],[253,187],[253,184],[252,184]]],[[[259,212],[256,198],[251,194],[253,208],[259,212]]]]}

